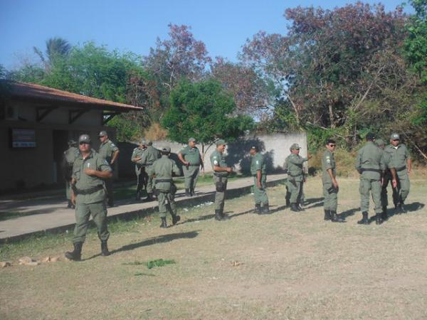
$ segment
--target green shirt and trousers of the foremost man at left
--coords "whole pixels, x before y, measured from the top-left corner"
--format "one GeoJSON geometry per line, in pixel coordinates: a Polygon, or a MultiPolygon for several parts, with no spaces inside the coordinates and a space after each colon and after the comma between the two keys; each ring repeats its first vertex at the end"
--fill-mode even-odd
{"type": "Polygon", "coordinates": [[[107,161],[91,151],[86,159],[79,153],[73,165],[75,184],[75,228],[73,242],[85,242],[89,218],[92,215],[97,226],[97,234],[101,241],[107,241],[110,233],[107,230],[107,208],[105,206],[105,188],[102,178],[85,174],[85,169],[96,171],[111,171],[107,161]]]}

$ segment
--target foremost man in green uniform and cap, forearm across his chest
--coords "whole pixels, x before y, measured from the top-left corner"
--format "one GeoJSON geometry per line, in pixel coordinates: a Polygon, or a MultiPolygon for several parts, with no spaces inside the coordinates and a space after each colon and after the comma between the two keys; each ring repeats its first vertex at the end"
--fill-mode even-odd
{"type": "Polygon", "coordinates": [[[73,164],[71,201],[75,205],[74,250],[65,252],[65,257],[78,261],[81,258],[83,242],[92,215],[101,240],[101,255],[110,255],[107,240],[110,233],[107,229],[107,207],[104,182],[112,177],[107,161],[97,154],[91,146],[88,134],[78,138],[79,154],[73,164]]]}

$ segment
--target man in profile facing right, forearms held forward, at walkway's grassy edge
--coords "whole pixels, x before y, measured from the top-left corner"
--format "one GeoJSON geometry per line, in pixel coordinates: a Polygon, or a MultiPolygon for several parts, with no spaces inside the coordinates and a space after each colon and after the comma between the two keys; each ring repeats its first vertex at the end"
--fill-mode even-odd
{"type": "Polygon", "coordinates": [[[216,149],[211,154],[211,166],[214,169],[215,183],[215,219],[227,220],[228,216],[224,214],[224,201],[226,200],[226,189],[228,176],[233,172],[233,169],[226,164],[224,151],[226,150],[226,142],[223,139],[216,141],[216,149]]]}

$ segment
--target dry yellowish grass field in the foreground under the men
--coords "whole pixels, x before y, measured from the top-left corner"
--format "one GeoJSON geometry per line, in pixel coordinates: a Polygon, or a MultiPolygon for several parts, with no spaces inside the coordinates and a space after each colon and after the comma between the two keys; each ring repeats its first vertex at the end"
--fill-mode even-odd
{"type": "Polygon", "coordinates": [[[302,213],[276,186],[270,215],[245,195],[226,202],[228,221],[207,203],[180,208],[172,228],[157,216],[112,224],[110,257],[93,229],[82,262],[16,263],[70,250],[70,235],[3,245],[13,265],[0,270],[0,319],[427,319],[427,183],[412,178],[409,212],[379,226],[357,225],[351,178],[340,181],[347,222],[325,222],[312,178],[302,213]],[[175,263],[144,264],[161,258],[175,263]]]}

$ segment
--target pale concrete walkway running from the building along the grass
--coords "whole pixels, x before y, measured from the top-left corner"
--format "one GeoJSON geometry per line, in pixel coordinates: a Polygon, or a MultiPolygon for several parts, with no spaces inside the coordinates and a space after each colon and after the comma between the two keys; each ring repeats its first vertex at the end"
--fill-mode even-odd
{"type": "MultiPolygon", "coordinates": [[[[287,178],[286,174],[275,174],[267,177],[267,185],[274,186],[287,178]]],[[[241,196],[250,191],[253,178],[239,178],[229,181],[227,198],[241,196]]],[[[204,201],[214,201],[214,186],[197,188],[196,195],[189,198],[184,191],[176,193],[178,206],[192,206],[204,201]]],[[[108,208],[108,217],[130,218],[153,212],[157,208],[157,201],[147,203],[137,202],[134,199],[117,201],[115,207],[108,208]]],[[[18,240],[28,235],[46,231],[72,230],[75,224],[74,210],[66,208],[67,202],[55,199],[29,201],[0,201],[0,215],[2,212],[26,213],[19,218],[0,220],[0,242],[18,240]]]]}

